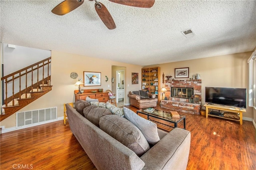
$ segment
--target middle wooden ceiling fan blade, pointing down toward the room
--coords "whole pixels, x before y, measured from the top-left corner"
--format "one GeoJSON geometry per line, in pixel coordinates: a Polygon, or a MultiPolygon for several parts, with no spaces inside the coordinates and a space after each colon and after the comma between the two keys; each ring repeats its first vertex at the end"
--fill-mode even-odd
{"type": "Polygon", "coordinates": [[[116,28],[116,24],[115,24],[112,16],[110,15],[110,13],[108,12],[108,9],[106,8],[106,6],[104,6],[100,2],[96,2],[95,3],[95,10],[98,13],[102,22],[106,25],[106,27],[108,27],[108,29],[115,29],[116,28]]]}

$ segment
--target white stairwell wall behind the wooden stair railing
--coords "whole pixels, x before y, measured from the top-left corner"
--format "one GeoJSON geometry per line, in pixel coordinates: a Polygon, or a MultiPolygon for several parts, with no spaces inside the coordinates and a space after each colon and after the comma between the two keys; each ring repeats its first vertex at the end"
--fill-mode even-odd
{"type": "MultiPolygon", "coordinates": [[[[37,63],[38,61],[42,61],[48,57],[51,57],[51,51],[42,50],[42,49],[34,49],[29,47],[22,47],[15,45],[15,48],[8,47],[8,44],[3,43],[3,64],[4,64],[4,76],[18,71],[26,66],[37,63]]],[[[51,75],[51,69],[48,72],[48,65],[44,68],[44,78],[51,75]]],[[[35,68],[35,67],[34,67],[35,68]]],[[[51,68],[51,64],[49,64],[49,68],[51,68]]],[[[28,70],[29,71],[29,70],[28,70]]],[[[39,69],[39,74],[37,77],[37,70],[33,71],[33,84],[37,82],[37,80],[42,80],[42,71],[43,68],[39,69]]],[[[25,73],[22,72],[22,73],[25,73]]],[[[31,86],[32,81],[31,72],[27,75],[27,86],[31,86]]],[[[9,79],[8,79],[9,80],[9,79]]],[[[20,82],[21,82],[21,90],[26,88],[26,76],[22,76],[21,80],[18,78],[14,80],[14,94],[18,93],[20,90],[20,82]]],[[[46,83],[46,82],[45,82],[46,83]]],[[[12,86],[13,83],[7,84],[7,97],[12,96],[12,86]]],[[[4,95],[6,95],[6,88],[4,86],[4,95]]]]}

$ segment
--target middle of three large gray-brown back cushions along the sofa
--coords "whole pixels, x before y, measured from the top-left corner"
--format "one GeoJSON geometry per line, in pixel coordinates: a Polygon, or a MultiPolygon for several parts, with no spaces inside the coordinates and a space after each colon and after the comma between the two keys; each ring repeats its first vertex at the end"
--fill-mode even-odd
{"type": "Polygon", "coordinates": [[[109,109],[97,107],[94,105],[84,108],[84,117],[98,127],[100,117],[104,115],[112,115],[112,113],[109,109]]]}

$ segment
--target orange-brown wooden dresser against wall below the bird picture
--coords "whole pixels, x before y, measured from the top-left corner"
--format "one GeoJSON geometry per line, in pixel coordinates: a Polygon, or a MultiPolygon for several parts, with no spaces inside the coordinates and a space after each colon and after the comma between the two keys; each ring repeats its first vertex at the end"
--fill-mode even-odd
{"type": "Polygon", "coordinates": [[[99,102],[107,102],[108,101],[108,92],[98,92],[98,89],[89,89],[89,90],[84,90],[84,93],[82,94],[77,94],[78,90],[74,91],[74,94],[76,95],[76,100],[86,100],[86,97],[88,96],[89,98],[92,99],[98,99],[99,102]],[[91,91],[97,91],[96,93],[92,93],[91,91]]]}

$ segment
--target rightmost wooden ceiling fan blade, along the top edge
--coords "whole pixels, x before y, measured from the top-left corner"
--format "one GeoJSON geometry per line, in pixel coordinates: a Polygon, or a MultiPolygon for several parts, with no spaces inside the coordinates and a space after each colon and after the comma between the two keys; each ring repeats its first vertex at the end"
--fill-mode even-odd
{"type": "Polygon", "coordinates": [[[151,8],[155,3],[155,0],[109,0],[109,1],[115,2],[118,4],[141,7],[141,8],[151,8]]]}

